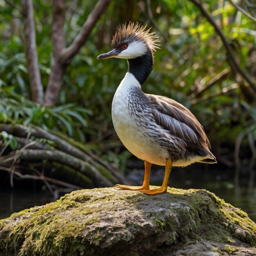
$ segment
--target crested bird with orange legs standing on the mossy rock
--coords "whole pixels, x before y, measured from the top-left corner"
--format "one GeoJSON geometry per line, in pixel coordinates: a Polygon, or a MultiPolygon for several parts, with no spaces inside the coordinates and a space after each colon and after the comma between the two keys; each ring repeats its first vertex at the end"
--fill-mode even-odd
{"type": "Polygon", "coordinates": [[[128,71],[112,100],[112,121],[121,142],[144,160],[145,166],[142,186],[114,187],[157,195],[167,191],[173,166],[217,161],[202,125],[189,109],[168,97],[141,90],[153,70],[154,53],[159,49],[159,37],[150,29],[139,22],[125,22],[112,37],[113,49],[97,59],[114,57],[128,61],[128,71]],[[165,166],[162,186],[157,189],[149,186],[152,164],[165,166]]]}

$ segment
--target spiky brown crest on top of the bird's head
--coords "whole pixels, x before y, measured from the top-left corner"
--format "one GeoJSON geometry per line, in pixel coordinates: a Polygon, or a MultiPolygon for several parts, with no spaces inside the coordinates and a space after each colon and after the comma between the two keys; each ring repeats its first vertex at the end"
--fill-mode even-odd
{"type": "Polygon", "coordinates": [[[145,41],[150,49],[155,52],[159,49],[159,37],[155,32],[150,33],[150,29],[146,29],[147,25],[140,25],[139,22],[129,22],[128,25],[125,22],[115,33],[112,38],[112,47],[114,49],[120,47],[125,43],[131,43],[133,41],[145,41]]]}

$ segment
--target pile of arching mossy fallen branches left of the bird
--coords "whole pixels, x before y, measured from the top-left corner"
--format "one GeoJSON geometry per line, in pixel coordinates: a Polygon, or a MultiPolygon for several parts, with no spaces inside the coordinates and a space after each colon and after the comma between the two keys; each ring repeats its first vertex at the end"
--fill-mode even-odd
{"type": "Polygon", "coordinates": [[[31,170],[30,166],[39,170],[36,176],[43,174],[44,170],[47,173],[55,170],[57,179],[60,177],[65,180],[65,175],[68,175],[74,180],[74,184],[83,184],[86,188],[130,184],[117,171],[110,171],[108,168],[111,166],[102,159],[68,137],[59,137],[37,126],[27,127],[20,124],[0,124],[1,131],[13,135],[18,142],[16,150],[8,145],[0,147],[0,165],[9,168],[11,184],[13,170],[18,168],[23,175],[30,174],[27,173],[31,170]]]}

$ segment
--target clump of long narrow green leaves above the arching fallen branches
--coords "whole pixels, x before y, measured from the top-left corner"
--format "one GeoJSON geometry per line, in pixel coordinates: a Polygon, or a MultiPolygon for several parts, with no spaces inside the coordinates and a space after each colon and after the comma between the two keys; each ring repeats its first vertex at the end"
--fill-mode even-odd
{"type": "Polygon", "coordinates": [[[74,103],[44,107],[8,90],[0,90],[0,122],[35,124],[45,129],[67,133],[85,141],[83,129],[88,125],[92,111],[74,103]],[[22,107],[20,107],[22,106],[22,107]]]}

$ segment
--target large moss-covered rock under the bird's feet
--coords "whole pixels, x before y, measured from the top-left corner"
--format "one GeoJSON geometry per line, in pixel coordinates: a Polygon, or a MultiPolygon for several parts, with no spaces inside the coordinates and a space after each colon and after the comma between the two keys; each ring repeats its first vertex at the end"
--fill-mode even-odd
{"type": "Polygon", "coordinates": [[[0,255],[256,255],[256,224],[205,190],[73,191],[0,220],[0,255]]]}

